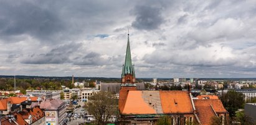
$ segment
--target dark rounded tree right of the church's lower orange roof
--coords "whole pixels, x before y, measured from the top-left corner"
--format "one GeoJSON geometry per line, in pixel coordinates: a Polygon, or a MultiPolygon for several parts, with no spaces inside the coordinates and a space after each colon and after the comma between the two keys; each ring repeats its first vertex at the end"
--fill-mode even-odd
{"type": "Polygon", "coordinates": [[[244,107],[244,95],[240,92],[230,90],[220,97],[225,109],[229,111],[230,118],[234,118],[235,111],[244,107]]]}

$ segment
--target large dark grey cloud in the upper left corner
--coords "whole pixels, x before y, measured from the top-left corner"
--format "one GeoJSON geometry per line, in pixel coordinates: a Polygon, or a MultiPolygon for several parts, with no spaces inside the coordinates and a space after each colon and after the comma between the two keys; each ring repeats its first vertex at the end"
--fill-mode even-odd
{"type": "Polygon", "coordinates": [[[47,40],[64,29],[59,16],[37,2],[1,1],[0,15],[0,35],[4,37],[29,34],[47,40]]]}

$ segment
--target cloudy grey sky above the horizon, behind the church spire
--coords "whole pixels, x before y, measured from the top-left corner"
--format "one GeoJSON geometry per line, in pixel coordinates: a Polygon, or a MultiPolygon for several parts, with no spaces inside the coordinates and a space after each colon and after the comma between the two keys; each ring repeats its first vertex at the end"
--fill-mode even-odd
{"type": "Polygon", "coordinates": [[[0,0],[0,75],[256,77],[256,1],[0,0]]]}

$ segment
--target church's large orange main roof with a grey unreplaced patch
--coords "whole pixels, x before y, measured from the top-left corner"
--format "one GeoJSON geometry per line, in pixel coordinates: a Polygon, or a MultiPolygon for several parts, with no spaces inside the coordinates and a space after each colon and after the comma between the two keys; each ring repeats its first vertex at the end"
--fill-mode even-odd
{"type": "Polygon", "coordinates": [[[193,113],[191,98],[185,91],[130,90],[122,114],[193,113]]]}

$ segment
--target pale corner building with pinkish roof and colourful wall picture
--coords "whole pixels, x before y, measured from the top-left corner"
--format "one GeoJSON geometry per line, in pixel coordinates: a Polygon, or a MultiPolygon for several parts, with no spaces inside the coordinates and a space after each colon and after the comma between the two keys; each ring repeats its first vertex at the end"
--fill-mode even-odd
{"type": "Polygon", "coordinates": [[[66,113],[65,102],[59,99],[47,99],[40,103],[40,109],[45,113],[45,123],[62,125],[66,113]]]}

